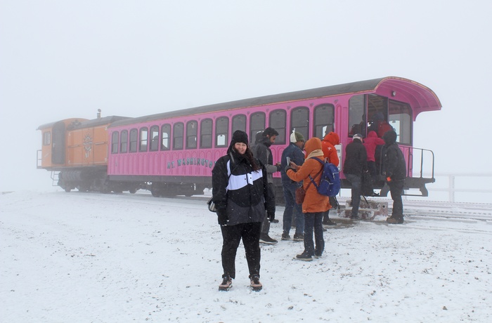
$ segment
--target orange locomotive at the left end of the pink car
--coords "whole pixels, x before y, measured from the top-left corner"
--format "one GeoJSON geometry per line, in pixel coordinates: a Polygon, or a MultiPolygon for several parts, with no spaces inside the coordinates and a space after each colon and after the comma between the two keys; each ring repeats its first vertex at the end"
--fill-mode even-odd
{"type": "Polygon", "coordinates": [[[39,126],[42,147],[37,168],[52,171],[53,180],[66,192],[136,192],[138,184],[108,180],[108,126],[127,117],[65,119],[39,126]]]}

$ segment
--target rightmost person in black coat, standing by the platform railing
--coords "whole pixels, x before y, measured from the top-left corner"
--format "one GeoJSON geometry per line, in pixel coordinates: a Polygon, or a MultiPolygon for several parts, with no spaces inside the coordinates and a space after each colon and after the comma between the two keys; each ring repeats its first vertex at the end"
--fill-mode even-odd
{"type": "Polygon", "coordinates": [[[391,199],[393,199],[393,211],[387,218],[387,223],[403,223],[403,202],[401,194],[406,178],[406,165],[403,152],[396,143],[396,132],[394,130],[384,133],[384,146],[382,148],[383,173],[389,186],[391,199]]]}

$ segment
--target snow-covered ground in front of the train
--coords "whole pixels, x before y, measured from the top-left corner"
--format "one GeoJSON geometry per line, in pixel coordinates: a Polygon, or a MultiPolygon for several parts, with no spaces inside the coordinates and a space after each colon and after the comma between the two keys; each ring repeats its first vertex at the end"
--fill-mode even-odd
{"type": "MultiPolygon", "coordinates": [[[[0,195],[1,322],[490,322],[492,223],[347,220],[323,258],[302,242],[261,246],[251,291],[242,245],[230,291],[203,199],[0,195]]],[[[280,223],[271,236],[280,240],[280,223]]]]}

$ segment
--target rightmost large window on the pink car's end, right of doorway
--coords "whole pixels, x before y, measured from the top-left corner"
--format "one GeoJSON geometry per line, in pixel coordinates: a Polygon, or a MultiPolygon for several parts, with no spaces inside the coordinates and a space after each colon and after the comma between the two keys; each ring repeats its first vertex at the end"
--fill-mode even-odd
{"type": "MultiPolygon", "coordinates": [[[[389,126],[396,131],[397,142],[412,145],[412,120],[413,116],[410,105],[389,100],[389,126]]],[[[387,130],[389,129],[385,129],[384,132],[387,130]]]]}

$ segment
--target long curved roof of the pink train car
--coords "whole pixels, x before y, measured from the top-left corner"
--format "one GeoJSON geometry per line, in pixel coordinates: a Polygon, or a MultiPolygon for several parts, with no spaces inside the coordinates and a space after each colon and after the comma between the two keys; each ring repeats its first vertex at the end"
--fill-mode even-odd
{"type": "Polygon", "coordinates": [[[272,103],[287,103],[312,98],[324,98],[333,95],[352,93],[385,93],[387,96],[391,97],[391,93],[393,91],[396,91],[397,93],[403,95],[405,98],[408,99],[408,102],[412,105],[414,109],[414,119],[420,112],[441,110],[441,103],[439,101],[439,98],[437,98],[436,94],[430,88],[427,88],[427,86],[423,86],[422,84],[419,84],[415,81],[411,81],[410,79],[403,79],[401,77],[383,77],[380,79],[369,79],[347,84],[324,86],[321,88],[312,88],[303,91],[266,95],[258,98],[249,98],[226,103],[191,107],[183,110],[162,112],[159,114],[150,114],[148,116],[115,121],[110,125],[110,127],[124,126],[126,124],[141,123],[158,119],[183,117],[207,112],[232,110],[241,107],[257,107],[272,103]]]}

